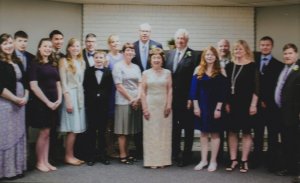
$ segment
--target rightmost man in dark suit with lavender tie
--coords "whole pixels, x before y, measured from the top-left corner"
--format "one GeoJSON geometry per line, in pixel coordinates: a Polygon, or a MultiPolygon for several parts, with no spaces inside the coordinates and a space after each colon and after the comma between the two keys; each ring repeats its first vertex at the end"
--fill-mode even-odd
{"type": "MultiPolygon", "coordinates": [[[[294,44],[283,47],[285,66],[282,69],[276,90],[275,102],[282,114],[282,145],[285,165],[277,175],[297,175],[300,124],[300,60],[294,44]]],[[[298,180],[298,182],[300,182],[298,180]]]]}

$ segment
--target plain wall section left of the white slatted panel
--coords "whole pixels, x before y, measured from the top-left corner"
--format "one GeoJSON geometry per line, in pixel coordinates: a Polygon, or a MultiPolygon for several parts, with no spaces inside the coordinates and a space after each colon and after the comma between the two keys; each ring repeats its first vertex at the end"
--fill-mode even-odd
{"type": "Polygon", "coordinates": [[[28,50],[33,54],[38,41],[48,37],[54,29],[63,32],[65,42],[71,37],[81,39],[82,5],[41,0],[0,0],[0,34],[13,35],[24,30],[29,35],[28,50]]]}

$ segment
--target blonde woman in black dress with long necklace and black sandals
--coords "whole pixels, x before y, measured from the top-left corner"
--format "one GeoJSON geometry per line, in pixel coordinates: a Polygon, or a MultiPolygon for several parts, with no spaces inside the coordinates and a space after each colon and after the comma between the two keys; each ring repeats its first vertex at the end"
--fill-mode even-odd
{"type": "Polygon", "coordinates": [[[232,63],[226,67],[227,77],[230,80],[230,97],[227,112],[229,122],[229,150],[230,164],[226,168],[232,171],[238,165],[238,134],[242,130],[242,157],[240,172],[248,171],[248,155],[251,149],[253,127],[252,116],[257,112],[258,78],[253,62],[252,52],[244,40],[238,40],[233,47],[232,63]]]}

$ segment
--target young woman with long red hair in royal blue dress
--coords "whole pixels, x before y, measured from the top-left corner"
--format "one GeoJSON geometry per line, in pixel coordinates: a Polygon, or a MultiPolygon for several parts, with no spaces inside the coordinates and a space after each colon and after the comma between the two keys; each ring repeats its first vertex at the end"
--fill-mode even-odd
{"type": "Polygon", "coordinates": [[[196,128],[201,131],[201,161],[194,170],[202,170],[208,165],[208,141],[211,137],[211,158],[208,171],[217,169],[219,131],[222,128],[221,108],[226,98],[226,79],[221,74],[217,50],[210,46],[201,56],[200,65],[195,69],[191,83],[191,100],[194,104],[196,128]]]}

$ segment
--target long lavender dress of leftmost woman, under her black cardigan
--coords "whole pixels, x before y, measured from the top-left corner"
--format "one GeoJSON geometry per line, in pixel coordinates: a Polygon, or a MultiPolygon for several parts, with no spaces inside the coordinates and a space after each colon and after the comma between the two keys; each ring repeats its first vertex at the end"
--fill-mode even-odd
{"type": "MultiPolygon", "coordinates": [[[[20,82],[22,72],[12,64],[16,73],[16,96],[23,97],[20,82]]],[[[14,177],[26,170],[25,106],[19,107],[0,97],[0,178],[14,177]]]]}

